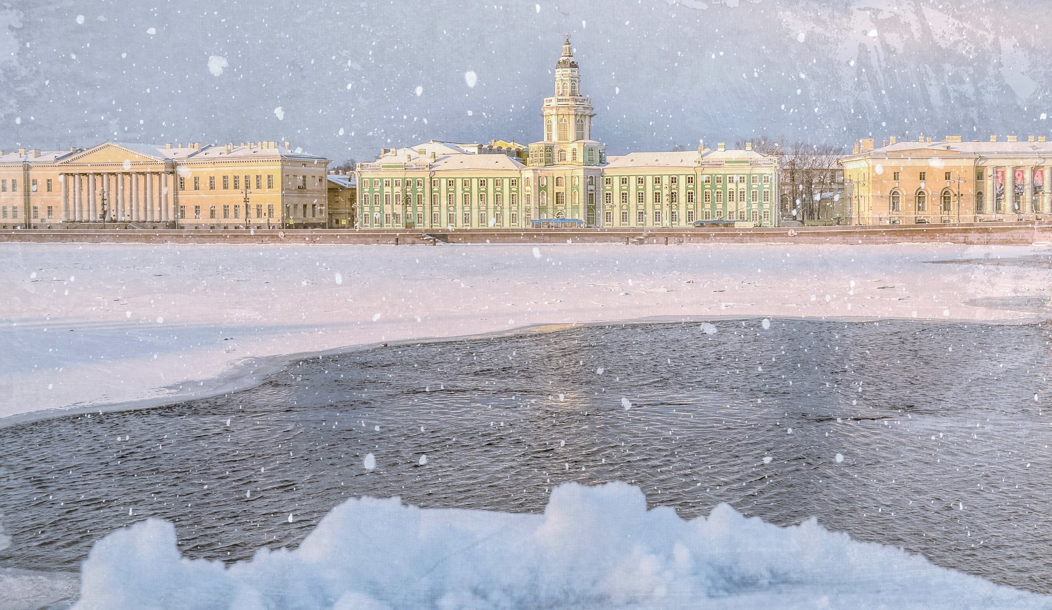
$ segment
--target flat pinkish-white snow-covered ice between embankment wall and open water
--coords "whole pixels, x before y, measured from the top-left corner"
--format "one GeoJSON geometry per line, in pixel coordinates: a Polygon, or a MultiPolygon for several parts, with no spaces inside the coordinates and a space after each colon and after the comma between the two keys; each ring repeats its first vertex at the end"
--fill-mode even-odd
{"type": "Polygon", "coordinates": [[[281,366],[284,354],[534,324],[715,316],[1030,320],[1048,314],[1040,304],[1052,269],[927,261],[1037,251],[0,244],[0,425],[52,409],[227,391],[281,366]]]}

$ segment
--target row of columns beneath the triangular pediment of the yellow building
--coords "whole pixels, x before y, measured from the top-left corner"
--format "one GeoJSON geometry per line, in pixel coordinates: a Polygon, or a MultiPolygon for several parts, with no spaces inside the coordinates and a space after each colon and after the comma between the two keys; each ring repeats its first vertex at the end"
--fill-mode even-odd
{"type": "Polygon", "coordinates": [[[63,221],[169,222],[176,218],[176,182],[170,169],[65,172],[59,182],[63,221]]]}

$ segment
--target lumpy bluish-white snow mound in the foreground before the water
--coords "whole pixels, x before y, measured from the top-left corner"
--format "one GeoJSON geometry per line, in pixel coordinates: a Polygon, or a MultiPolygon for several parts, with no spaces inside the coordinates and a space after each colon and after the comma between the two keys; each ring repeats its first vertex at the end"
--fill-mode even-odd
{"type": "Polygon", "coordinates": [[[99,541],[87,609],[1052,608],[1052,601],[830,532],[727,505],[683,521],[623,483],[555,488],[544,514],[349,500],[296,550],[180,556],[170,523],[99,541]]]}

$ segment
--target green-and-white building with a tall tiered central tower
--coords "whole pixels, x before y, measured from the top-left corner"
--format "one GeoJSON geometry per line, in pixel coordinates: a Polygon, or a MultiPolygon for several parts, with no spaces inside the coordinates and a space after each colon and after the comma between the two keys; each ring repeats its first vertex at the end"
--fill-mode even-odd
{"type": "Polygon", "coordinates": [[[541,105],[543,139],[528,146],[430,141],[359,163],[363,228],[514,228],[541,219],[587,226],[686,227],[694,221],[777,223],[778,166],[746,146],[608,157],[592,138],[569,38],[553,95],[541,105]]]}

